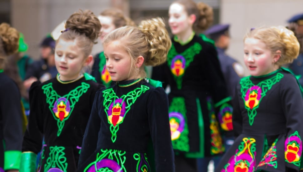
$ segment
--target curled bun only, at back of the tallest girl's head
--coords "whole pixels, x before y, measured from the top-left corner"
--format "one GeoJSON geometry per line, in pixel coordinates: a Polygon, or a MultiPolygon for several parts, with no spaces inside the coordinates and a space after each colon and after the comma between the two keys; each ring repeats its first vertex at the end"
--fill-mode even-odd
{"type": "Polygon", "coordinates": [[[197,20],[197,29],[204,31],[206,30],[214,20],[214,13],[212,8],[206,3],[197,3],[197,8],[199,10],[199,17],[197,20]]]}

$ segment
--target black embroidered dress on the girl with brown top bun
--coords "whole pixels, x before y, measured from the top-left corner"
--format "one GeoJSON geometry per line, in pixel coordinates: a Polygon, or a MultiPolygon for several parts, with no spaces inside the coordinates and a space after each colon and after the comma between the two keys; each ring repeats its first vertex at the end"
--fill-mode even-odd
{"type": "Polygon", "coordinates": [[[32,84],[28,128],[22,152],[41,151],[40,171],[74,172],[93,100],[103,88],[85,74],[72,82],[52,78],[32,84]],[[44,142],[42,144],[42,138],[44,142]]]}

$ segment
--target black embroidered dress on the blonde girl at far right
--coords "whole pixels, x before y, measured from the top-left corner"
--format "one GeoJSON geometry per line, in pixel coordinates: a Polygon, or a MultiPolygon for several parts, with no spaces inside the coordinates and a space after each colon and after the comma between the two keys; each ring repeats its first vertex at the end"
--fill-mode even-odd
{"type": "Polygon", "coordinates": [[[296,78],[284,69],[242,78],[233,105],[238,137],[216,171],[299,171],[303,99],[296,78]]]}

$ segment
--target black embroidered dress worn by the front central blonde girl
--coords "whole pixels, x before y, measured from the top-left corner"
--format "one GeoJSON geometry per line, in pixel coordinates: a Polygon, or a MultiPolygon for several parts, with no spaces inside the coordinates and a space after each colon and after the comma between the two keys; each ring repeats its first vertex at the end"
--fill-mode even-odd
{"type": "Polygon", "coordinates": [[[97,92],[78,171],[174,171],[167,94],[151,80],[115,83],[97,92]],[[151,169],[152,142],[156,169],[151,169]]]}

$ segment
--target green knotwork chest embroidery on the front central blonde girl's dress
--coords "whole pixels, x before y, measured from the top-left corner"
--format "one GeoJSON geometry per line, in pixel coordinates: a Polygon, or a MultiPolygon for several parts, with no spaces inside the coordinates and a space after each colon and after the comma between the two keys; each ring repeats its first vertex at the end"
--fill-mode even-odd
{"type": "Polygon", "coordinates": [[[108,115],[108,123],[110,124],[110,131],[112,133],[112,142],[117,139],[117,132],[119,130],[119,124],[123,123],[123,120],[127,112],[131,109],[132,104],[135,103],[137,98],[149,90],[149,87],[141,85],[126,95],[122,95],[119,98],[112,88],[104,90],[103,107],[104,111],[108,115]]]}

